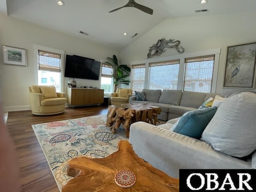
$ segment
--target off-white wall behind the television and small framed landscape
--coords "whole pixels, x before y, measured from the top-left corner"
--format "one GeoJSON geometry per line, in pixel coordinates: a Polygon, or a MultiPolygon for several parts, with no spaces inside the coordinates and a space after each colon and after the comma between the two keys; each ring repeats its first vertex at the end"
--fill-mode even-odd
{"type": "MultiPolygon", "coordinates": [[[[1,53],[2,44],[27,50],[27,67],[4,65],[2,64],[2,54],[0,54],[0,80],[4,111],[30,108],[28,86],[34,84],[34,68],[36,67],[34,64],[34,44],[64,50],[65,54],[75,54],[93,58],[97,61],[100,61],[100,59],[106,60],[107,57],[112,57],[113,54],[116,54],[119,58],[120,53],[118,50],[5,16],[4,14],[0,14],[1,53]]],[[[66,92],[68,79],[64,78],[64,92],[66,92]]],[[[76,82],[78,86],[99,86],[99,81],[96,80],[76,79],[76,82]]]]}

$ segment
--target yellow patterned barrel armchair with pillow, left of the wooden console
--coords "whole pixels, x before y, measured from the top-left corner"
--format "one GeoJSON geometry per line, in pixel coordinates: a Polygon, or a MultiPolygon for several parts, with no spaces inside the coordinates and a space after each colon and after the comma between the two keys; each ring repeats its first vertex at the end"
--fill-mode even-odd
{"type": "Polygon", "coordinates": [[[57,93],[54,86],[32,85],[28,90],[32,114],[54,115],[64,112],[66,93],[57,93]]]}

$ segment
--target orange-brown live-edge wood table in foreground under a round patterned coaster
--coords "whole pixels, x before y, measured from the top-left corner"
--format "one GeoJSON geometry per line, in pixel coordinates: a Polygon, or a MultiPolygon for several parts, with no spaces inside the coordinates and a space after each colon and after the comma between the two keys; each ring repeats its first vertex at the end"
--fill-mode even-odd
{"type": "MultiPolygon", "coordinates": [[[[168,176],[139,158],[128,141],[120,141],[118,151],[105,158],[80,156],[69,160],[67,174],[75,178],[62,188],[62,192],[179,191],[177,178],[168,176]],[[136,177],[130,188],[122,188],[115,182],[116,174],[122,170],[132,172],[136,177]]],[[[123,179],[124,182],[129,180],[129,175],[124,175],[123,179]]]]}

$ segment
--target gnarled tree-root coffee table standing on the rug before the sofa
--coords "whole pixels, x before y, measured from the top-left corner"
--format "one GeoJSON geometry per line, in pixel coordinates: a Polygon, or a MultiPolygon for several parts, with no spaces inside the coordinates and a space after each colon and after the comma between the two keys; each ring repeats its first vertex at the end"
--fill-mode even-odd
{"type": "Polygon", "coordinates": [[[156,122],[159,122],[157,115],[160,113],[160,107],[148,104],[111,105],[108,108],[106,126],[110,127],[111,132],[114,133],[123,124],[126,137],[129,137],[132,123],[144,121],[156,125],[156,122]]]}

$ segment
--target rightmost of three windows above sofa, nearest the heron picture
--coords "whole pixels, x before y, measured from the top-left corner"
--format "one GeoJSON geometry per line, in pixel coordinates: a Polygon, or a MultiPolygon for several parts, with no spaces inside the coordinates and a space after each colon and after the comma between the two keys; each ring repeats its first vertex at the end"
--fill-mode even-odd
{"type": "Polygon", "coordinates": [[[214,55],[186,58],[184,91],[211,92],[214,55]]]}

